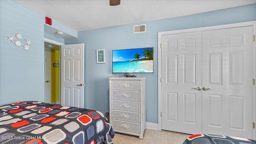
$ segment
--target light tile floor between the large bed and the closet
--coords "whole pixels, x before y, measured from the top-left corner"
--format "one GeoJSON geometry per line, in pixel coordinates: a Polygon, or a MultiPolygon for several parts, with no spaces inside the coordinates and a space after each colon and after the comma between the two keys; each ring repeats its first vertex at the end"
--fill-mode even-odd
{"type": "Polygon", "coordinates": [[[191,135],[146,129],[142,140],[138,136],[116,133],[113,142],[114,144],[182,144],[189,136],[191,135]]]}

